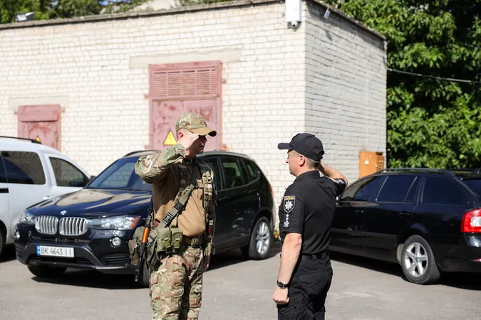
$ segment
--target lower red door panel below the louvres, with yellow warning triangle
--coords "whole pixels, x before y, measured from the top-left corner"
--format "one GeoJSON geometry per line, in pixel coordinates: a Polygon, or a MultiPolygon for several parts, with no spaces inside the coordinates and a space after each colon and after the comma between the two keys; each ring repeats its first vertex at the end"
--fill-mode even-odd
{"type": "MultiPolygon", "coordinates": [[[[212,129],[217,127],[217,100],[164,101],[154,103],[154,132],[152,149],[165,149],[175,144],[177,134],[175,122],[180,114],[196,112],[201,114],[212,129]],[[172,139],[172,137],[175,139],[172,139]]],[[[216,129],[217,130],[217,129],[216,129]]],[[[205,151],[218,149],[219,138],[207,137],[205,151]]]]}

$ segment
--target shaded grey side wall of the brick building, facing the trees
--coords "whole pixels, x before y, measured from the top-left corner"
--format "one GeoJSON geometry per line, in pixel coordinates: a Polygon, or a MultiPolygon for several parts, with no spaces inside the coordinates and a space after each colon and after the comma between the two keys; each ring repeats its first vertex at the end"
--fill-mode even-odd
{"type": "Polygon", "coordinates": [[[386,152],[386,51],[380,37],[324,12],[306,9],[306,130],[351,183],[359,151],[386,152]]]}

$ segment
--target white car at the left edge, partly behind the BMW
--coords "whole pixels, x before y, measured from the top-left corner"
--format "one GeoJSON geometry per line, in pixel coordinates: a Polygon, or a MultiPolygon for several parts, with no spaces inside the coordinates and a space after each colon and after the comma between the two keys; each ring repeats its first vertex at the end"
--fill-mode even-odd
{"type": "Polygon", "coordinates": [[[0,137],[0,255],[14,243],[26,208],[78,191],[93,178],[68,156],[36,140],[0,137]]]}

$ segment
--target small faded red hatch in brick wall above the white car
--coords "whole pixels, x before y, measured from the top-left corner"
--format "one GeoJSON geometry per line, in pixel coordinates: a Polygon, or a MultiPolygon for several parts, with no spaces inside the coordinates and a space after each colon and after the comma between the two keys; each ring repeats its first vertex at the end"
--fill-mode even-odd
{"type": "Polygon", "coordinates": [[[19,107],[19,137],[61,150],[60,112],[59,105],[19,107]]]}

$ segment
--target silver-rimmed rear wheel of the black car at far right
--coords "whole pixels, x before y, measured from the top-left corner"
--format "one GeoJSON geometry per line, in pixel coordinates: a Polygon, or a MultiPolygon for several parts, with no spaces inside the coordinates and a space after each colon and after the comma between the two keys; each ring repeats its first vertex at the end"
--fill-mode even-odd
{"type": "Polygon", "coordinates": [[[406,278],[417,284],[432,284],[441,274],[428,241],[413,235],[404,242],[401,267],[406,278]]]}

